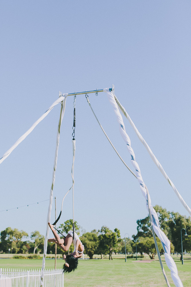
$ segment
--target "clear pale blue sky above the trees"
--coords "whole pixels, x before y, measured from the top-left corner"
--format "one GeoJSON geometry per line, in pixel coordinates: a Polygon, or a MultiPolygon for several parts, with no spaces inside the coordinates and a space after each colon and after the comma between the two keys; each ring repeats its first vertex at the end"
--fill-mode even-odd
{"type": "MultiPolygon", "coordinates": [[[[2,1],[0,157],[62,93],[111,88],[186,203],[190,198],[190,1],[2,1]]],[[[105,93],[90,103],[115,148],[130,155],[105,93]]],[[[49,198],[60,104],[0,165],[0,210],[49,198]]],[[[124,118],[152,205],[188,213],[124,118]]],[[[54,196],[57,214],[72,184],[73,97],[66,100],[54,196]]],[[[136,233],[145,199],[76,97],[75,220],[136,233]]],[[[1,212],[1,230],[46,232],[48,201],[1,212]]],[[[52,209],[54,221],[54,204],[52,209]]],[[[72,218],[72,193],[60,223],[72,218]]]]}

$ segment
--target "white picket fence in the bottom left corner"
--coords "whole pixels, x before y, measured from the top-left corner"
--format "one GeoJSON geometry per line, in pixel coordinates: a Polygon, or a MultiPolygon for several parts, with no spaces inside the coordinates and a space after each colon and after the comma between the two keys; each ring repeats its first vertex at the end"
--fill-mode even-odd
{"type": "MultiPolygon", "coordinates": [[[[40,269],[0,269],[0,287],[40,287],[40,269]]],[[[44,287],[64,287],[63,269],[45,269],[44,287]]]]}

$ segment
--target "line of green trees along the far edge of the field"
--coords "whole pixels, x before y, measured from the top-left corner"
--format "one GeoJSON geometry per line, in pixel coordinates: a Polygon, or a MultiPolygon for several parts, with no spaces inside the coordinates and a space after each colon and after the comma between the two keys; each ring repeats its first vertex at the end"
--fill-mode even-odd
{"type": "MultiPolygon", "coordinates": [[[[191,251],[191,220],[190,217],[182,216],[178,212],[168,212],[165,208],[159,205],[154,206],[155,211],[159,217],[160,228],[167,235],[171,241],[171,253],[181,253],[181,229],[185,228],[188,236],[182,236],[183,250],[187,252],[191,251]]],[[[72,219],[67,220],[64,224],[60,224],[58,230],[61,233],[67,234],[69,230],[72,230],[72,219]]],[[[79,235],[81,227],[75,222],[75,231],[79,235]]],[[[1,231],[0,252],[8,253],[11,249],[11,253],[43,253],[44,250],[44,236],[39,231],[31,232],[30,238],[32,241],[23,241],[23,238],[28,237],[28,234],[23,230],[11,229],[10,227],[1,231]]],[[[62,238],[62,236],[61,236],[62,238]]],[[[90,259],[94,254],[101,255],[101,258],[105,255],[109,255],[109,259],[112,260],[112,253],[124,253],[125,254],[125,241],[126,241],[126,253],[137,252],[143,254],[146,253],[153,259],[156,255],[155,244],[151,232],[151,226],[149,222],[149,216],[137,220],[137,234],[132,235],[133,240],[129,238],[121,238],[119,229],[115,228],[114,231],[110,230],[106,226],[102,226],[100,230],[92,230],[91,232],[83,232],[80,236],[85,250],[90,259]],[[136,249],[137,248],[137,249],[136,249]]],[[[157,238],[157,244],[161,253],[164,252],[162,244],[157,238]]],[[[70,253],[73,251],[73,247],[70,246],[70,253]]],[[[48,242],[47,248],[48,254],[55,253],[55,244],[48,242]]],[[[64,254],[64,252],[57,248],[57,254],[64,254]]]]}

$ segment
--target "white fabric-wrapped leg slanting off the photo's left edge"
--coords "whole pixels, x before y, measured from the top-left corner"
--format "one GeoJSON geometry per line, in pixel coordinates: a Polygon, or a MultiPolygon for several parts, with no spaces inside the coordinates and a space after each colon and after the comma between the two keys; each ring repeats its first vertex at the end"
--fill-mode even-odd
{"type": "Polygon", "coordinates": [[[50,113],[50,111],[54,108],[54,106],[56,106],[57,104],[62,102],[67,96],[68,96],[68,94],[63,94],[62,96],[60,96],[60,98],[58,98],[50,106],[50,108],[48,108],[48,110],[30,127],[30,129],[28,129],[28,131],[26,131],[26,133],[24,133],[21,137],[19,137],[19,139],[15,142],[15,144],[13,144],[13,146],[11,146],[11,148],[9,148],[9,150],[7,150],[7,152],[5,152],[5,154],[3,154],[2,158],[0,159],[0,164],[21,143],[21,141],[23,141],[23,139],[25,139],[25,137],[27,137],[27,135],[29,135],[29,133],[31,133],[31,131],[34,130],[34,128],[38,125],[38,123],[40,123],[50,113]]]}

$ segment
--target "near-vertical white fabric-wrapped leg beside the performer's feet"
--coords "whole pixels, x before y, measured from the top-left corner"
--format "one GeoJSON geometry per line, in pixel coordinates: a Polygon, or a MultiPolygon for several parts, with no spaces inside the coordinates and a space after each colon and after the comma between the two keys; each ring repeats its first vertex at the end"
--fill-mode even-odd
{"type": "Polygon", "coordinates": [[[53,173],[52,173],[52,185],[50,188],[50,201],[49,201],[49,206],[48,206],[48,215],[47,215],[47,222],[46,222],[46,235],[45,235],[45,239],[44,239],[44,254],[43,254],[43,259],[42,259],[40,286],[43,285],[43,278],[44,278],[45,259],[46,259],[46,253],[47,253],[48,235],[49,235],[49,230],[50,230],[48,222],[50,222],[51,209],[52,209],[53,188],[54,188],[55,173],[56,173],[56,166],[57,166],[57,159],[58,159],[58,147],[59,147],[59,141],[60,141],[60,127],[62,124],[62,119],[64,117],[67,96],[68,96],[68,94],[63,94],[59,98],[62,100],[64,99],[64,101],[63,101],[63,103],[61,103],[62,106],[61,106],[60,119],[59,119],[59,123],[58,123],[58,130],[57,130],[57,136],[56,136],[56,150],[55,150],[55,156],[54,156],[54,168],[53,168],[53,173]]]}

